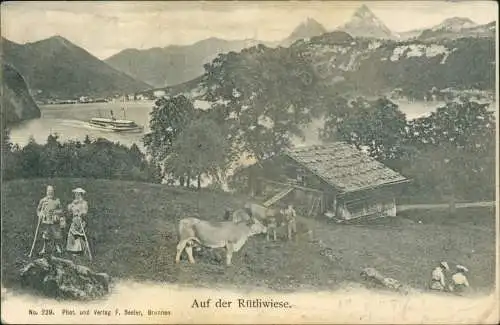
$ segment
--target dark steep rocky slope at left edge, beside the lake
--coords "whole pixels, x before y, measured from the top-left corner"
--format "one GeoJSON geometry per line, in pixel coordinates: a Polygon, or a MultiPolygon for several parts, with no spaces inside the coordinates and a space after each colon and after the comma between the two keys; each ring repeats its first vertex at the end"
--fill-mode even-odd
{"type": "Polygon", "coordinates": [[[40,117],[40,109],[31,97],[24,78],[5,62],[2,62],[1,96],[2,119],[7,125],[40,117]]]}

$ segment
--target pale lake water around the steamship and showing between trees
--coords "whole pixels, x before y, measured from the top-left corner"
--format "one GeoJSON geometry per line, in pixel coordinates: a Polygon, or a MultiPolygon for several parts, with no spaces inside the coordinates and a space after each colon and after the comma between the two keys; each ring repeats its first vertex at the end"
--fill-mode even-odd
{"type": "MultiPolygon", "coordinates": [[[[408,119],[414,119],[436,110],[443,103],[439,102],[396,102],[408,119]]],[[[130,146],[136,143],[141,149],[141,133],[115,133],[112,131],[98,130],[87,125],[92,117],[109,117],[113,110],[116,118],[126,118],[144,126],[144,132],[149,131],[149,112],[154,106],[154,101],[116,102],[116,103],[91,103],[91,104],[61,104],[42,105],[41,118],[25,121],[11,129],[11,140],[20,146],[28,143],[33,137],[38,143],[45,143],[49,134],[57,133],[61,140],[83,140],[86,135],[91,139],[106,138],[110,141],[120,142],[130,146]],[[126,110],[123,111],[122,108],[126,110]]],[[[495,105],[491,105],[495,109],[495,105]]],[[[294,139],[296,145],[310,145],[318,143],[317,128],[322,126],[322,120],[315,120],[305,130],[306,140],[294,139]]]]}

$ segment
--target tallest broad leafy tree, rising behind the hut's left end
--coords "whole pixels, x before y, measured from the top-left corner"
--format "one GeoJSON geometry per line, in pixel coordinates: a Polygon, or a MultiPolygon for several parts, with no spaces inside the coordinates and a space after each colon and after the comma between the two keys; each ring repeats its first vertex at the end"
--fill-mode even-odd
{"type": "Polygon", "coordinates": [[[215,102],[228,138],[257,159],[280,152],[317,111],[310,60],[292,48],[263,45],[219,55],[205,65],[205,98],[215,102]]]}

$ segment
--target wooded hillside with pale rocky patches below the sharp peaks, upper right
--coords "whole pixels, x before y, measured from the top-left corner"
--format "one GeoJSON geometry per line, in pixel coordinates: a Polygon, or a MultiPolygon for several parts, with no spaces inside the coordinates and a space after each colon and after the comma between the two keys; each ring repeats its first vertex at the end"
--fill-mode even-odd
{"type": "Polygon", "coordinates": [[[206,81],[220,79],[226,84],[232,83],[235,89],[247,95],[261,86],[260,91],[266,93],[268,89],[284,87],[285,82],[249,85],[249,80],[265,83],[270,78],[269,71],[274,71],[273,80],[289,80],[290,74],[293,75],[299,66],[306,68],[307,72],[301,74],[305,73],[309,81],[287,85],[288,88],[280,92],[304,97],[309,88],[313,92],[324,88],[335,89],[344,96],[381,96],[399,88],[409,98],[423,100],[433,87],[493,91],[495,40],[489,37],[436,41],[374,40],[353,38],[336,31],[297,41],[290,48],[260,46],[222,55],[212,63],[210,76],[205,74],[197,79],[198,82],[193,80],[182,87],[167,89],[167,92],[178,90],[203,99],[207,92],[206,81]],[[270,56],[282,59],[271,64],[270,56]],[[290,86],[296,88],[289,89],[290,86]]]}

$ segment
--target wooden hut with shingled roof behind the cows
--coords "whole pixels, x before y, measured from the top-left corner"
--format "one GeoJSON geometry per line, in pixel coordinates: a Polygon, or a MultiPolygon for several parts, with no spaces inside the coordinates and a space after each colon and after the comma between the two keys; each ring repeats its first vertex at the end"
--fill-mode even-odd
{"type": "Polygon", "coordinates": [[[395,216],[401,184],[409,181],[345,142],[291,149],[244,171],[249,192],[264,205],[288,201],[303,215],[339,220],[395,216]]]}

